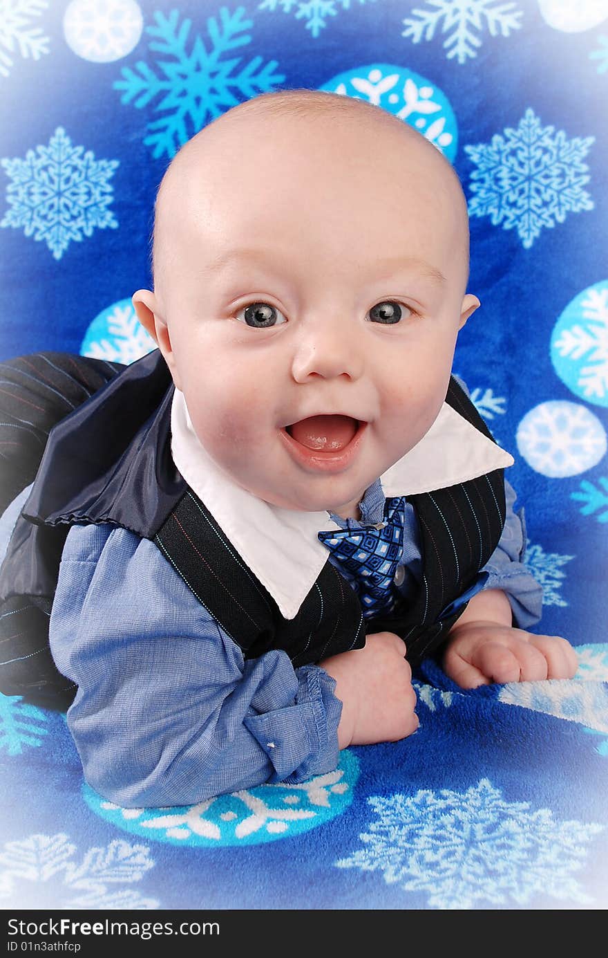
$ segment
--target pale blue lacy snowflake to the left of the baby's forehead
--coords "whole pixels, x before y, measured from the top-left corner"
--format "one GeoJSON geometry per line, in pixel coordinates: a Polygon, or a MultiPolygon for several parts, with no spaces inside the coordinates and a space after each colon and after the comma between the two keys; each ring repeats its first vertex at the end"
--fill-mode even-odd
{"type": "Polygon", "coordinates": [[[73,147],[62,126],[57,126],[48,147],[36,147],[25,160],[3,159],[12,179],[7,190],[11,209],[0,226],[25,227],[27,237],[43,239],[60,260],[71,240],[82,241],[93,230],[116,229],[108,210],[113,192],[108,180],[118,160],[96,160],[90,149],[73,147]]]}

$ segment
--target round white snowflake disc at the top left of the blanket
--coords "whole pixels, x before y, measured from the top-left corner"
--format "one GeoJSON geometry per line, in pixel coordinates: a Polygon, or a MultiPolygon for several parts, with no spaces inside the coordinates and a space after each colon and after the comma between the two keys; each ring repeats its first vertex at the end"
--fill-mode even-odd
{"type": "Polygon", "coordinates": [[[139,42],[144,17],[135,0],[72,0],[63,14],[66,43],[78,57],[110,63],[139,42]]]}

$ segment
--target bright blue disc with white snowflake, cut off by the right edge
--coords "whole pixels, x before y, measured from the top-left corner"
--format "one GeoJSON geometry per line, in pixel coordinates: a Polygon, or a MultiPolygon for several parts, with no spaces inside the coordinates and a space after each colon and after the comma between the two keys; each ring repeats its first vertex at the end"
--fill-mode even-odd
{"type": "Polygon", "coordinates": [[[584,289],[555,324],[551,341],[557,375],[587,402],[608,406],[608,283],[584,289]]]}

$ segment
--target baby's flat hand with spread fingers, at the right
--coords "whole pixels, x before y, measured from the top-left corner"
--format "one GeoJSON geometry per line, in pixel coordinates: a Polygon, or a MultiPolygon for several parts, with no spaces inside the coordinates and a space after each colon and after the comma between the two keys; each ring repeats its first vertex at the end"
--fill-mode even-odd
{"type": "Polygon", "coordinates": [[[572,678],[577,667],[573,647],[559,635],[534,635],[484,621],[457,622],[443,656],[444,672],[463,689],[572,678]]]}

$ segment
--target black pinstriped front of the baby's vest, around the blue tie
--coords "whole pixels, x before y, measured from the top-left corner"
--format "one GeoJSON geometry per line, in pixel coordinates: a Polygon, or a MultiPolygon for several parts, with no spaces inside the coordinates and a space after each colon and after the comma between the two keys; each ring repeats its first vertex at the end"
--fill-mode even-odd
{"type": "MultiPolygon", "coordinates": [[[[492,439],[453,377],[446,402],[492,439]]],[[[362,648],[367,632],[393,631],[416,665],[437,649],[462,614],[466,604],[456,611],[450,606],[473,585],[498,545],[506,516],[504,470],[411,495],[408,501],[420,529],[422,582],[411,602],[367,620],[356,593],[328,557],[295,618],[285,619],[190,487],[153,541],[246,657],[282,649],[297,667],[362,648]]]]}

